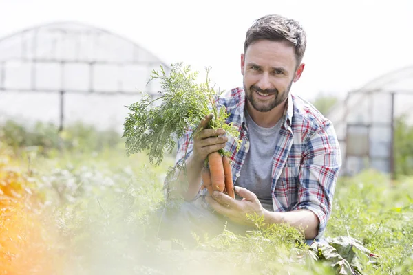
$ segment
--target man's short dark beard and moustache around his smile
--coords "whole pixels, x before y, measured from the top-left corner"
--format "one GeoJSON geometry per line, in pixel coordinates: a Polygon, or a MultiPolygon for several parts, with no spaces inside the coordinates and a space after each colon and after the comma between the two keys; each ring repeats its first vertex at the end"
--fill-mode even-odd
{"type": "Polygon", "coordinates": [[[279,106],[286,98],[288,97],[288,94],[290,93],[291,85],[293,85],[293,81],[290,82],[290,85],[288,85],[287,89],[280,93],[278,89],[260,89],[260,87],[257,87],[255,85],[251,85],[249,89],[246,89],[246,85],[244,83],[244,91],[246,95],[246,99],[248,102],[251,103],[251,106],[262,113],[266,113],[268,111],[271,111],[275,107],[279,106]],[[255,99],[254,94],[255,91],[260,92],[260,94],[274,94],[274,98],[271,101],[268,101],[266,103],[259,102],[258,100],[255,99]]]}

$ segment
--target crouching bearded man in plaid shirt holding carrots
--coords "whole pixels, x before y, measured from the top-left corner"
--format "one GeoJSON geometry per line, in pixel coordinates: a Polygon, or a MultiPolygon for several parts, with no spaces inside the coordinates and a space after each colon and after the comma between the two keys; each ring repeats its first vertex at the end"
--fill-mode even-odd
{"type": "MultiPolygon", "coordinates": [[[[186,201],[206,201],[212,212],[233,224],[251,228],[246,214],[256,213],[266,223],[304,230],[306,239],[321,238],[341,153],[332,123],[290,93],[304,71],[305,50],[306,34],[293,19],[268,15],[248,29],[241,54],[244,87],[232,89],[218,102],[231,113],[227,122],[240,130],[242,146],[236,151],[222,129],[203,129],[194,140],[189,140],[191,132],[182,137],[176,163],[186,162],[186,201]],[[231,152],[236,199],[200,190],[204,159],[221,148],[231,152]]],[[[209,120],[211,116],[200,127],[209,120]]]]}

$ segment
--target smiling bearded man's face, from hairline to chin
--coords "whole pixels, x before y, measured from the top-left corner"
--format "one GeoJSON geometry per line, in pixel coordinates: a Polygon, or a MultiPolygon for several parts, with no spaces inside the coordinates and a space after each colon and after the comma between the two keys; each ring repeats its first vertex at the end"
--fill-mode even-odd
{"type": "Polygon", "coordinates": [[[293,81],[304,69],[296,69],[292,45],[282,41],[256,41],[241,55],[246,99],[260,112],[271,111],[288,97],[293,81]]]}

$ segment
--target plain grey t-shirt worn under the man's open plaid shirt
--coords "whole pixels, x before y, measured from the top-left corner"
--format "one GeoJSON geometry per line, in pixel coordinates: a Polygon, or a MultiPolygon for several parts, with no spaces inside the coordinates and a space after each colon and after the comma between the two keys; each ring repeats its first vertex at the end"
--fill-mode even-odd
{"type": "MultiPolygon", "coordinates": [[[[248,127],[249,151],[240,170],[240,177],[235,181],[236,186],[244,187],[257,195],[266,210],[273,211],[271,196],[271,170],[273,155],[277,145],[281,121],[271,128],[258,126],[245,111],[246,126],[248,127]]],[[[236,199],[241,199],[235,195],[236,199]]]]}

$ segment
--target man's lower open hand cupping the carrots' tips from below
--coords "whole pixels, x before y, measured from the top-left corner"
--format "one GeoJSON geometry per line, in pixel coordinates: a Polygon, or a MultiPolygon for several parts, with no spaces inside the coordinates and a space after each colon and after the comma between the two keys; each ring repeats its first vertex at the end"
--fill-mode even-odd
{"type": "Polygon", "coordinates": [[[207,196],[207,202],[213,210],[223,214],[235,223],[254,225],[255,223],[248,219],[246,214],[254,215],[256,213],[258,216],[262,216],[266,213],[266,210],[253,192],[239,186],[235,186],[234,189],[235,193],[243,198],[241,201],[237,201],[223,192],[214,191],[212,197],[207,196]]]}

